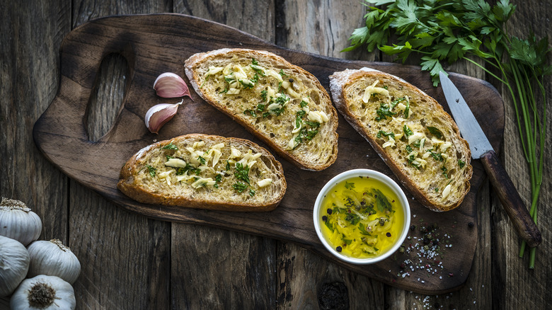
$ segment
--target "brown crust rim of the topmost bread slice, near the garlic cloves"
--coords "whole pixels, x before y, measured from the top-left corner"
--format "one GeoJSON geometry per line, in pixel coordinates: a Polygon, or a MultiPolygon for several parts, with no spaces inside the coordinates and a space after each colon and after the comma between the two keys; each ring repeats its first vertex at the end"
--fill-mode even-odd
{"type": "MultiPolygon", "coordinates": [[[[193,54],[190,58],[188,58],[185,61],[185,74],[188,76],[188,79],[190,81],[190,84],[194,88],[195,92],[207,103],[214,106],[214,108],[217,108],[222,113],[228,115],[232,118],[232,120],[238,122],[240,125],[246,128],[248,132],[251,132],[251,134],[255,135],[255,137],[258,137],[261,139],[265,144],[270,147],[273,151],[275,151],[277,154],[282,156],[287,161],[293,163],[298,168],[309,170],[309,171],[321,171],[323,169],[328,168],[332,163],[335,162],[338,156],[338,134],[337,134],[337,128],[338,128],[338,113],[333,108],[333,105],[331,104],[331,99],[328,93],[326,92],[326,89],[323,88],[323,86],[320,84],[318,79],[316,79],[316,76],[309,73],[308,71],[302,69],[301,67],[298,67],[294,64],[290,64],[287,62],[283,57],[278,56],[277,54],[273,54],[271,52],[266,52],[262,50],[248,50],[248,49],[229,49],[224,48],[221,50],[213,50],[210,52],[204,52],[204,53],[197,53],[193,54]],[[251,122],[246,122],[246,120],[241,117],[242,113],[237,113],[236,111],[232,111],[229,108],[226,108],[224,105],[218,104],[219,100],[214,97],[214,93],[207,93],[205,91],[202,91],[200,88],[200,83],[202,76],[197,72],[197,66],[199,64],[209,62],[212,59],[217,59],[220,57],[226,57],[229,58],[231,56],[235,57],[248,57],[256,58],[256,59],[270,59],[270,62],[275,66],[283,69],[288,69],[289,71],[292,71],[294,73],[297,73],[297,75],[303,77],[305,79],[308,79],[312,86],[314,86],[316,89],[316,93],[318,96],[320,96],[320,101],[323,103],[323,105],[326,108],[326,112],[330,120],[328,121],[328,130],[326,130],[326,133],[330,135],[328,137],[328,146],[330,147],[330,151],[328,154],[323,154],[321,156],[315,155],[314,151],[316,150],[309,150],[313,154],[302,154],[299,151],[287,151],[284,147],[282,147],[281,143],[277,143],[274,138],[270,137],[269,134],[265,134],[258,130],[257,127],[251,124],[251,122]]],[[[325,124],[326,125],[326,124],[325,124]]],[[[301,151],[304,152],[304,151],[301,151]]]]}

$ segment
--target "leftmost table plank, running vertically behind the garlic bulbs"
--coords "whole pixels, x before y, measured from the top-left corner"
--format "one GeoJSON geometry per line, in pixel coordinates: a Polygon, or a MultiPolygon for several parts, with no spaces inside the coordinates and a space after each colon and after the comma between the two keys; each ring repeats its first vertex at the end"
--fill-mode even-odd
{"type": "MultiPolygon", "coordinates": [[[[70,29],[69,4],[4,1],[0,11],[0,196],[21,200],[38,214],[40,240],[57,238],[73,246],[67,176],[40,154],[31,129],[57,91],[57,50],[70,29]]],[[[0,309],[9,309],[9,297],[0,298],[0,309]]]]}

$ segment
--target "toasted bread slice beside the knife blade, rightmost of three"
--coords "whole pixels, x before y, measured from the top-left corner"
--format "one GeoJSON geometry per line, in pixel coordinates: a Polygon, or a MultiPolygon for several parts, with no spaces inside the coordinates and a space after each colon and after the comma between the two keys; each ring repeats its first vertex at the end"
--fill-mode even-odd
{"type": "Polygon", "coordinates": [[[471,152],[435,99],[368,68],[335,72],[330,91],[345,120],[422,205],[438,212],[460,205],[470,189],[471,152]]]}

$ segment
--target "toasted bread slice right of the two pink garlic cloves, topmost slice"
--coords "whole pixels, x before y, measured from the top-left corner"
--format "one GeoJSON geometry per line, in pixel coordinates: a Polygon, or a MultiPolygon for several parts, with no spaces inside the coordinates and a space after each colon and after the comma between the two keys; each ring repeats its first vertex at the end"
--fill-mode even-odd
{"type": "Polygon", "coordinates": [[[194,54],[185,72],[195,92],[296,166],[320,171],[338,154],[338,113],[316,77],[270,52],[194,54]]]}

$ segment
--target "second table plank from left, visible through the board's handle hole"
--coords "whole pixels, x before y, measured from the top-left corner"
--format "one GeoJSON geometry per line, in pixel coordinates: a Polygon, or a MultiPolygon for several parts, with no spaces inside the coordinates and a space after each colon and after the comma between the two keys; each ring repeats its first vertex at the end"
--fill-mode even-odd
{"type": "MultiPolygon", "coordinates": [[[[167,11],[164,1],[76,1],[74,27],[91,18],[167,11]]],[[[117,54],[98,67],[86,117],[86,139],[98,141],[113,126],[125,96],[129,66],[117,54]]],[[[81,259],[75,283],[81,309],[168,309],[171,279],[171,224],[115,207],[74,180],[69,183],[69,239],[81,259]],[[108,288],[108,289],[106,289],[108,288]]]]}

